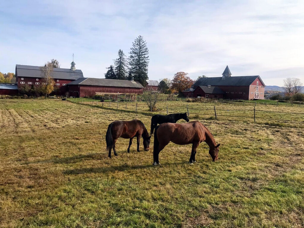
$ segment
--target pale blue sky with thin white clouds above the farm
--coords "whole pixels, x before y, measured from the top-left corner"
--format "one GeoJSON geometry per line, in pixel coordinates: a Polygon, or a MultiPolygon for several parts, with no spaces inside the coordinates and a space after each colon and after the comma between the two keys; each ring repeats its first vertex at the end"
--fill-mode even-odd
{"type": "Polygon", "coordinates": [[[260,75],[266,85],[304,83],[304,1],[1,1],[0,71],[59,60],[104,78],[136,36],[150,51],[148,76],[192,79],[260,75]]]}

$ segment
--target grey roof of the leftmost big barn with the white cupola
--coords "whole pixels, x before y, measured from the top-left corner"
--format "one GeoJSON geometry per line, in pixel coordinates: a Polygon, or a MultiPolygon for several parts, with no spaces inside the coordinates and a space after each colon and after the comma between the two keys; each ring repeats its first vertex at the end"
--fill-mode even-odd
{"type": "MultiPolygon", "coordinates": [[[[16,77],[43,78],[42,67],[16,64],[16,77]]],[[[72,71],[71,69],[54,68],[52,77],[56,79],[75,80],[83,78],[83,73],[81,70],[72,71]]]]}

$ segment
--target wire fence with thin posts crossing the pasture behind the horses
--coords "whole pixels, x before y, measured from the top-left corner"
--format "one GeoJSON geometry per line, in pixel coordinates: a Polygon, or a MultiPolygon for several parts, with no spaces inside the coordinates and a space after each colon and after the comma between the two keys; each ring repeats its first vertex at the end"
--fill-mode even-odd
{"type": "MultiPolygon", "coordinates": [[[[81,98],[74,98],[71,100],[76,103],[84,103],[81,98]]],[[[210,118],[210,119],[249,119],[254,122],[257,120],[272,120],[272,121],[282,121],[282,122],[296,122],[296,123],[304,123],[304,112],[282,112],[282,111],[272,111],[272,110],[262,110],[258,109],[256,106],[253,107],[244,107],[244,109],[225,109],[222,107],[216,108],[207,107],[207,108],[199,108],[197,105],[190,105],[192,103],[185,104],[181,103],[178,107],[170,107],[167,105],[159,105],[158,109],[151,110],[148,105],[144,102],[100,102],[94,101],[85,102],[84,104],[93,105],[96,107],[101,107],[105,109],[116,109],[118,111],[132,111],[138,112],[148,115],[155,114],[163,114],[168,115],[171,113],[181,113],[187,112],[188,116],[191,119],[199,119],[199,118],[210,118]]]]}

